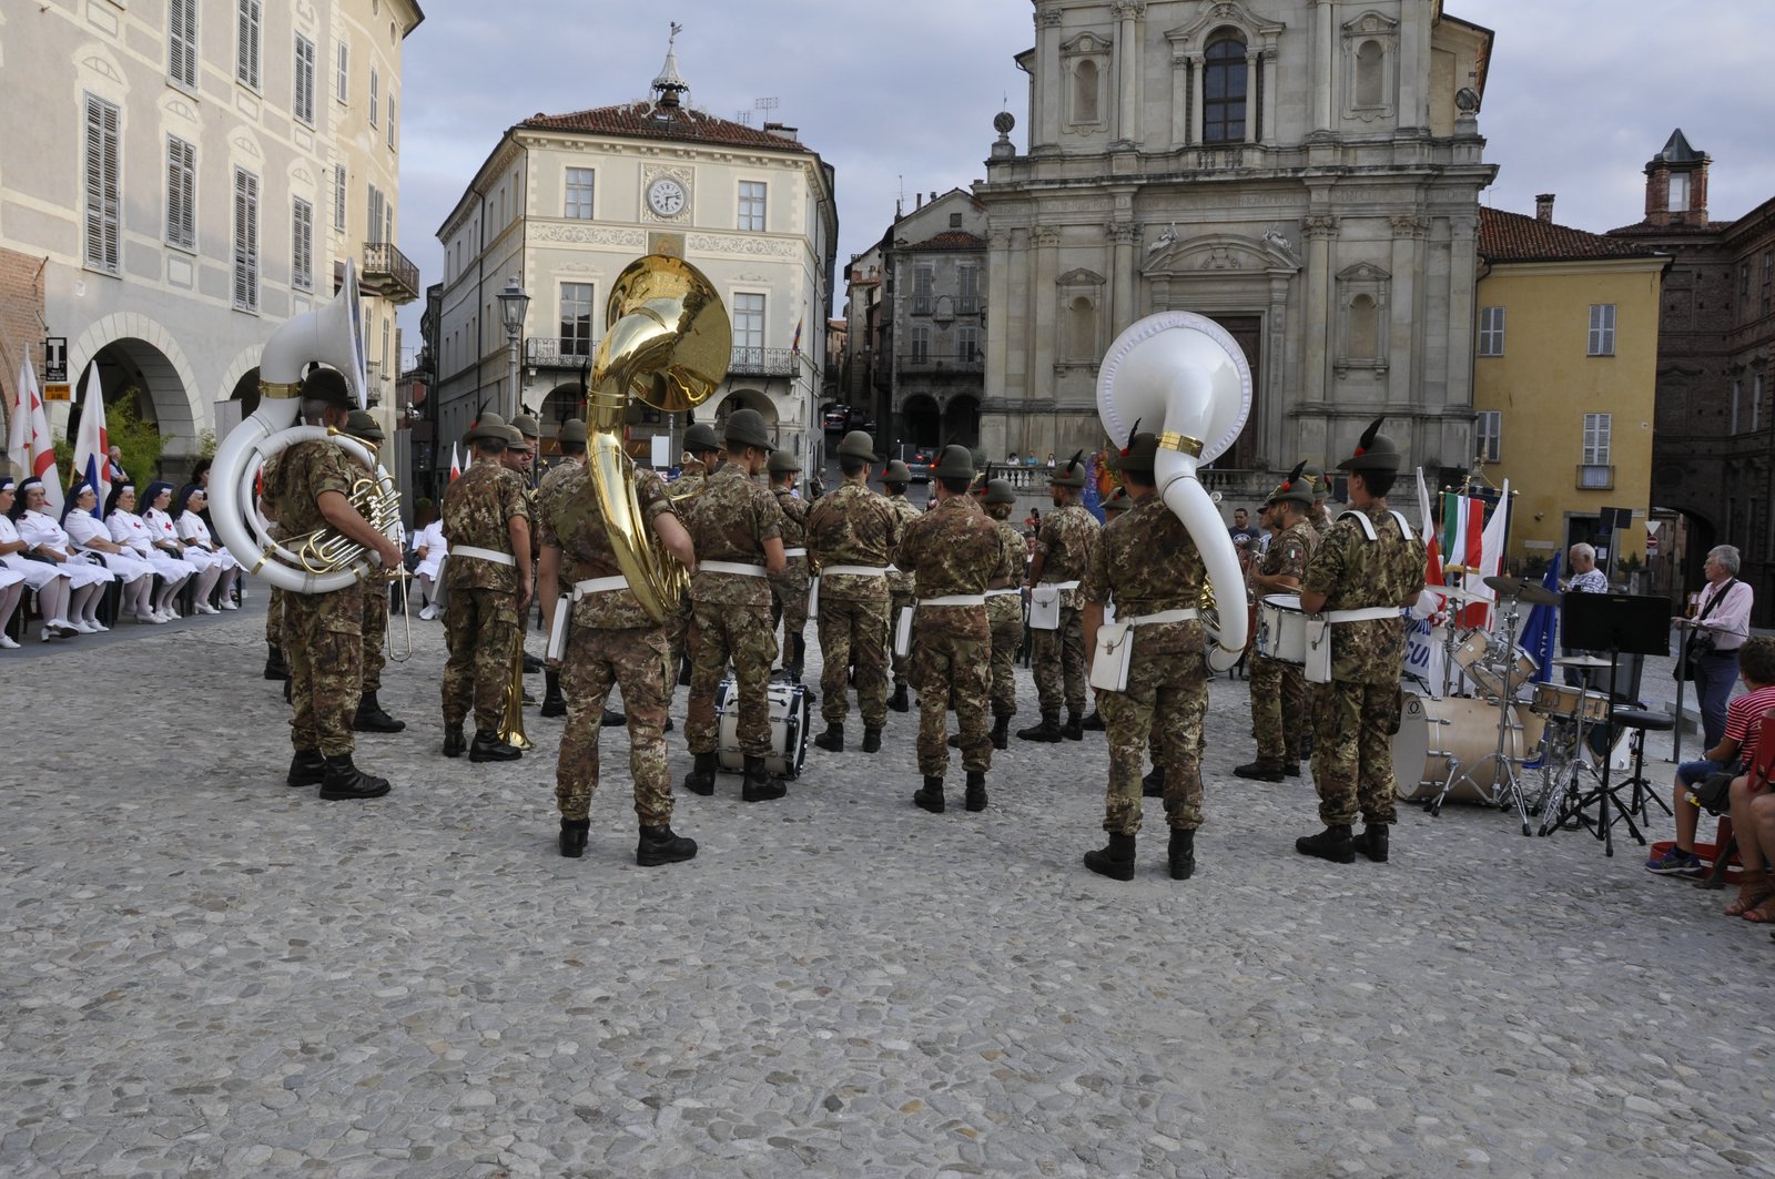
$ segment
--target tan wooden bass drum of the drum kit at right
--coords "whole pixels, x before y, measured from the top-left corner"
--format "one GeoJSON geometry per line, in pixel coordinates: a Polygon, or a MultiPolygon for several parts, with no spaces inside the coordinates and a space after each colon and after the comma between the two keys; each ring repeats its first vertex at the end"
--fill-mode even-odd
{"type": "MultiPolygon", "coordinates": [[[[1519,778],[1521,764],[1532,762],[1541,749],[1546,717],[1521,705],[1511,705],[1505,716],[1511,732],[1503,739],[1503,755],[1518,765],[1519,778]]],[[[1399,733],[1393,735],[1393,792],[1406,801],[1427,803],[1441,794],[1450,776],[1473,771],[1496,751],[1498,705],[1466,696],[1436,700],[1406,692],[1406,703],[1399,710],[1399,733]]],[[[1484,771],[1473,772],[1473,778],[1480,787],[1495,787],[1498,764],[1486,762],[1484,771]]],[[[1463,803],[1491,801],[1468,781],[1450,790],[1448,797],[1463,803]]]]}

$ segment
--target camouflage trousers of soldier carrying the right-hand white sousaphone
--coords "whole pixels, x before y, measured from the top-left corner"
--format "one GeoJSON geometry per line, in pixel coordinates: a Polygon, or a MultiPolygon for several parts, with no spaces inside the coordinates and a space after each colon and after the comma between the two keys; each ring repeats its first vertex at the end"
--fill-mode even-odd
{"type": "Polygon", "coordinates": [[[1140,833],[1140,779],[1147,764],[1164,769],[1164,815],[1172,827],[1202,826],[1202,721],[1209,710],[1202,623],[1138,627],[1127,691],[1097,692],[1097,716],[1109,737],[1109,790],[1104,831],[1140,833]]]}

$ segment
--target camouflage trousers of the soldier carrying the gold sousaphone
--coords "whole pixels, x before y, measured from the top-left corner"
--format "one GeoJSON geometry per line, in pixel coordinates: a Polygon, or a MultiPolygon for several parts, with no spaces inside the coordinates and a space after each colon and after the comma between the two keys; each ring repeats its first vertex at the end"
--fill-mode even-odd
{"type": "Polygon", "coordinates": [[[671,767],[666,762],[669,659],[671,643],[664,627],[572,630],[561,668],[566,728],[556,758],[556,803],[563,819],[591,815],[591,795],[598,788],[598,717],[616,684],[623,689],[623,712],[628,714],[628,776],[635,787],[635,819],[643,827],[671,824],[671,767]]]}

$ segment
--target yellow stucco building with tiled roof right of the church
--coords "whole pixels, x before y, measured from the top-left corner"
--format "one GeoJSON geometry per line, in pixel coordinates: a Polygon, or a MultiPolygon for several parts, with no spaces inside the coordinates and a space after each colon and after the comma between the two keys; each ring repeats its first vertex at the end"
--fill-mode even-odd
{"type": "Polygon", "coordinates": [[[1605,568],[1645,558],[1658,305],[1670,259],[1651,249],[1480,210],[1473,410],[1480,471],[1514,492],[1511,563],[1583,540],[1605,568]],[[1631,508],[1613,536],[1605,508],[1631,508]],[[1601,556],[1601,552],[1599,552],[1601,556]]]}

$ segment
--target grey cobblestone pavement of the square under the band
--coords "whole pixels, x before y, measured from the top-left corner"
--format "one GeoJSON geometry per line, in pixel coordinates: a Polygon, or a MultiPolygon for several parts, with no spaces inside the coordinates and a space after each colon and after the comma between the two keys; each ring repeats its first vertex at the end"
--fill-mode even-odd
{"type": "Polygon", "coordinates": [[[559,721],[438,756],[417,625],[375,803],[282,785],[252,609],[0,655],[0,1172],[1775,1175],[1761,929],[1477,806],[1303,859],[1310,785],[1230,772],[1241,682],[1189,882],[1150,822],[1134,882],[1079,865],[1100,733],[916,810],[916,714],[779,803],[680,792],[701,854],[637,868],[627,739],[559,858],[559,721]]]}

